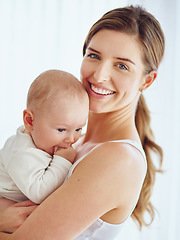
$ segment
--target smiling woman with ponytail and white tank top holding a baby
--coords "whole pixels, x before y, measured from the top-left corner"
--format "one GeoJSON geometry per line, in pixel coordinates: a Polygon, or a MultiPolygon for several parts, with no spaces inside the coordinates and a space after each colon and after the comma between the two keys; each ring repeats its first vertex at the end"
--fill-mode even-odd
{"type": "Polygon", "coordinates": [[[81,66],[90,113],[77,161],[67,181],[0,239],[115,239],[129,216],[140,228],[146,211],[153,220],[157,169],[151,153],[161,165],[162,151],[153,141],[142,92],[156,79],[163,53],[162,29],[140,7],[112,10],[92,26],[81,66]]]}

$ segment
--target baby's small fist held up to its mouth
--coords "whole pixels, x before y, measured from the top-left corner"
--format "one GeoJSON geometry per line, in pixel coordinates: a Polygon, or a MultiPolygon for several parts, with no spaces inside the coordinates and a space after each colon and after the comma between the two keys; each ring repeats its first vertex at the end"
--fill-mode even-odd
{"type": "Polygon", "coordinates": [[[75,157],[76,157],[76,151],[74,150],[74,148],[72,146],[70,146],[69,148],[55,147],[54,155],[63,157],[65,159],[67,159],[68,161],[70,161],[71,163],[73,163],[75,160],[75,157]]]}

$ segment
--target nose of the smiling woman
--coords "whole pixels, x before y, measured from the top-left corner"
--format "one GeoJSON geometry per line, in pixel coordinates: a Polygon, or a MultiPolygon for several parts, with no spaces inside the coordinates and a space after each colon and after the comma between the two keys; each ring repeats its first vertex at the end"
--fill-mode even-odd
{"type": "Polygon", "coordinates": [[[111,68],[108,62],[99,63],[94,72],[96,82],[109,81],[111,79],[111,68]]]}

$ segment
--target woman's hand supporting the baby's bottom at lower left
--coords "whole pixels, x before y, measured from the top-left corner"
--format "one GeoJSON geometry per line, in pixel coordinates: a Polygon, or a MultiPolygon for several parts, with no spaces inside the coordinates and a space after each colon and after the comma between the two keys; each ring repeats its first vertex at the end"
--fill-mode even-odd
{"type": "Polygon", "coordinates": [[[16,231],[38,205],[30,200],[13,204],[0,211],[0,231],[12,233],[16,231]]]}

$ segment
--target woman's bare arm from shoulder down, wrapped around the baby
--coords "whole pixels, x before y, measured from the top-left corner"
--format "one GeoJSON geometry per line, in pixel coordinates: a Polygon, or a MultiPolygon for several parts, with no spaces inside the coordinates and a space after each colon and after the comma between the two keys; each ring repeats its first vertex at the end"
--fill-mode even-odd
{"type": "Polygon", "coordinates": [[[125,220],[138,198],[145,167],[136,167],[134,157],[127,159],[133,154],[123,149],[119,143],[94,149],[7,239],[74,239],[98,217],[116,208],[125,207],[122,221],[125,220]]]}

